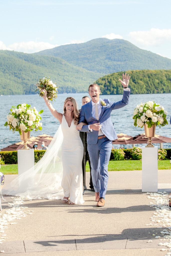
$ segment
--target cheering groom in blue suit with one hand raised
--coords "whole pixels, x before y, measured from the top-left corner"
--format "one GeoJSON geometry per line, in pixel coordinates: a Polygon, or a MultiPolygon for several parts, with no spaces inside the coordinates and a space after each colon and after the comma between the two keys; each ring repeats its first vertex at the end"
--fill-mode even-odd
{"type": "Polygon", "coordinates": [[[105,205],[105,194],[108,183],[108,163],[112,150],[112,140],[117,139],[116,132],[110,119],[114,109],[122,108],[129,102],[130,89],[128,88],[130,76],[122,75],[123,98],[118,102],[109,99],[100,99],[98,84],[90,84],[88,88],[91,101],[83,105],[79,122],[87,123],[79,130],[87,132],[87,149],[92,167],[92,180],[96,194],[97,206],[105,205]]]}

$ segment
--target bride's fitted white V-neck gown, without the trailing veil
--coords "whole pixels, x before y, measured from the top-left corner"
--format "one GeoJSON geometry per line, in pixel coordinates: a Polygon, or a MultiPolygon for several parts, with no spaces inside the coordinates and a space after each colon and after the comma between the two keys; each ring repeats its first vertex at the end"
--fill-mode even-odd
{"type": "Polygon", "coordinates": [[[61,128],[64,136],[62,142],[64,196],[69,197],[74,204],[83,204],[83,143],[73,120],[69,127],[63,115],[61,128]]]}

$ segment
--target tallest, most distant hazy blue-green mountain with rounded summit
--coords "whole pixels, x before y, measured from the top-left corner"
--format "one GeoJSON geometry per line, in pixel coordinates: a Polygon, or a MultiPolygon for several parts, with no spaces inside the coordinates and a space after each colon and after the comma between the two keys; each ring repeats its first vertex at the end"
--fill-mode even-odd
{"type": "Polygon", "coordinates": [[[142,50],[123,39],[98,38],[36,54],[59,57],[74,66],[104,74],[123,70],[171,69],[171,59],[142,50]]]}

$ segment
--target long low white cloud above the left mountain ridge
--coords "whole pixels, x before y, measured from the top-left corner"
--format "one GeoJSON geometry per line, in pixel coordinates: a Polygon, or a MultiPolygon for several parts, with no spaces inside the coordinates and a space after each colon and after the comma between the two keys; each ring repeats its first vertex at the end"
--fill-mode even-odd
{"type": "Polygon", "coordinates": [[[22,51],[27,53],[33,53],[38,51],[43,51],[46,49],[51,49],[59,45],[52,45],[48,42],[20,42],[20,43],[14,43],[12,45],[9,45],[9,48],[14,51],[22,51]]]}

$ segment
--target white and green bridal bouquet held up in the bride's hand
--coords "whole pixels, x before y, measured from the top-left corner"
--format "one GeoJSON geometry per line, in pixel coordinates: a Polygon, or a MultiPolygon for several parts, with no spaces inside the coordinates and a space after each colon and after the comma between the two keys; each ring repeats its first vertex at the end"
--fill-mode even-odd
{"type": "Polygon", "coordinates": [[[46,90],[48,100],[53,101],[57,98],[58,87],[56,87],[56,83],[53,83],[52,80],[50,79],[50,77],[40,78],[39,81],[35,85],[37,86],[37,90],[39,90],[39,92],[40,92],[39,96],[41,96],[41,97],[44,96],[45,92],[42,90],[46,90]]]}

